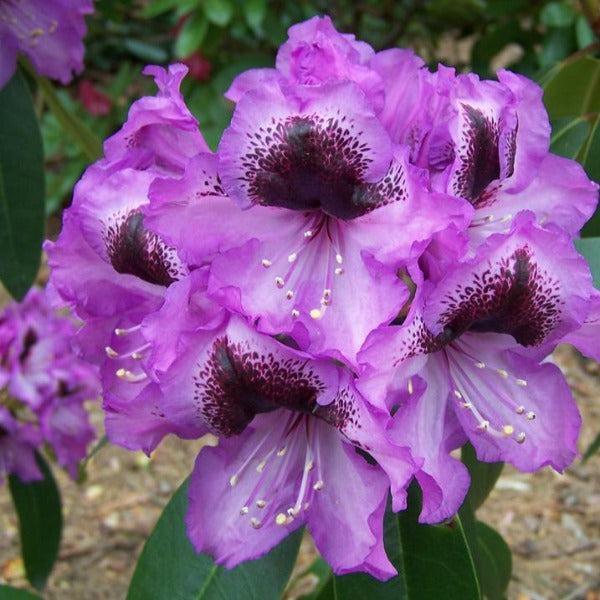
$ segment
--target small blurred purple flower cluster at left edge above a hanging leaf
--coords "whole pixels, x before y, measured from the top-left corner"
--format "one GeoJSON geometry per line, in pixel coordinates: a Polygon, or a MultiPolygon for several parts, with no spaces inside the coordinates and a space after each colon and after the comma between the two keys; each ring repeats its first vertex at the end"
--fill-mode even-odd
{"type": "Polygon", "coordinates": [[[0,483],[5,474],[42,479],[35,451],[43,445],[77,477],[95,437],[84,402],[100,386],[97,369],[71,350],[75,332],[37,288],[0,315],[0,483]]]}

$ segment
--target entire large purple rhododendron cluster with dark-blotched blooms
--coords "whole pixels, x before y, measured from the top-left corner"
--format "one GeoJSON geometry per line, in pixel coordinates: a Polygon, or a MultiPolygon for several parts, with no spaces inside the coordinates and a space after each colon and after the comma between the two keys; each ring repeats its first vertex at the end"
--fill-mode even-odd
{"type": "Polygon", "coordinates": [[[100,365],[109,437],[219,436],[187,530],[228,567],[302,524],[337,573],[395,574],[388,492],[439,522],[469,485],[451,452],[561,470],[579,416],[559,342],[598,358],[599,294],[573,237],[597,187],[549,153],[541,90],[328,18],[292,27],[276,68],[239,75],[211,152],[148,67],[105,157],[75,189],[51,284],[100,365]]]}

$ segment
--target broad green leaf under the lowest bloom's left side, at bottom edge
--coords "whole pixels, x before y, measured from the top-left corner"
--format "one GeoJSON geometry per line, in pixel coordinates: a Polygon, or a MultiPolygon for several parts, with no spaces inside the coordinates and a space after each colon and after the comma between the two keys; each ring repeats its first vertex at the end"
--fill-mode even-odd
{"type": "Polygon", "coordinates": [[[140,556],[127,600],[279,600],[296,561],[302,531],[261,559],[226,570],[196,554],[184,526],[188,482],[163,511],[140,556]]]}

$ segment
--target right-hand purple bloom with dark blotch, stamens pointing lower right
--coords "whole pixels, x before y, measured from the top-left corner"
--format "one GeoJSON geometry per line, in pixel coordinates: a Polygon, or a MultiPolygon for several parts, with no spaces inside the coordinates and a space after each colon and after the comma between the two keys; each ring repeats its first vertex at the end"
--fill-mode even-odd
{"type": "Polygon", "coordinates": [[[562,470],[576,455],[575,402],[560,370],[539,360],[584,324],[591,276],[566,234],[531,219],[418,292],[406,322],[374,332],[359,355],[361,391],[397,411],[394,435],[424,460],[424,521],[460,505],[466,486],[457,489],[448,451],[465,436],[479,459],[522,471],[562,470]]]}

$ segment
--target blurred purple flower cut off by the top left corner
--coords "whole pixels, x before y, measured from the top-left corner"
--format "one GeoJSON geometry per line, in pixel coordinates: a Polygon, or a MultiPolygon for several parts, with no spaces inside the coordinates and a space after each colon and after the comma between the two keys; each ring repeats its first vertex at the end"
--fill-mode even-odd
{"type": "Polygon", "coordinates": [[[83,69],[84,15],[92,0],[2,0],[0,88],[24,52],[40,75],[69,83],[83,69]]]}

